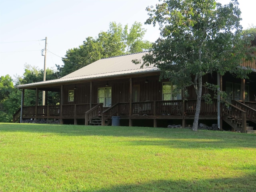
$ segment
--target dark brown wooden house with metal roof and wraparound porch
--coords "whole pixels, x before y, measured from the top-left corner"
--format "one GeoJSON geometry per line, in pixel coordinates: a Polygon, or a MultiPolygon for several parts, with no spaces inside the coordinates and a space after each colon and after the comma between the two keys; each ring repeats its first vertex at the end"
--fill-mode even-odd
{"type": "MultiPolygon", "coordinates": [[[[24,106],[22,100],[21,110],[14,115],[13,122],[21,116],[20,120],[59,119],[61,124],[108,125],[113,117],[120,117],[123,126],[192,125],[196,106],[194,90],[188,90],[186,99],[183,91],[174,96],[176,86],[168,80],[159,81],[157,67],[140,68],[132,62],[142,60],[147,53],[103,58],[60,79],[19,85],[22,98],[26,90],[36,91],[36,106],[24,106]],[[42,90],[46,91],[44,106],[39,105],[38,100],[38,92],[42,90]],[[47,105],[48,91],[60,93],[59,105],[47,105]]],[[[223,123],[243,132],[249,127],[248,123],[256,123],[255,61],[244,62],[243,66],[252,68],[249,80],[237,79],[231,74],[204,76],[204,82],[220,82],[220,89],[227,92],[231,104],[226,107],[217,100],[212,104],[202,100],[201,122],[217,123],[219,118],[220,126],[223,123]]]]}

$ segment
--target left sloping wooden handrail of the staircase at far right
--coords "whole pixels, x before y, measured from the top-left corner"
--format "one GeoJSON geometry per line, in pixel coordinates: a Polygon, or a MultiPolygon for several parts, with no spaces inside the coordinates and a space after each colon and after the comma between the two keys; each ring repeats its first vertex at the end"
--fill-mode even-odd
{"type": "Polygon", "coordinates": [[[237,122],[242,123],[242,132],[246,132],[246,111],[238,108],[237,106],[224,101],[223,105],[223,113],[230,116],[231,118],[233,118],[234,120],[236,120],[237,122]]]}

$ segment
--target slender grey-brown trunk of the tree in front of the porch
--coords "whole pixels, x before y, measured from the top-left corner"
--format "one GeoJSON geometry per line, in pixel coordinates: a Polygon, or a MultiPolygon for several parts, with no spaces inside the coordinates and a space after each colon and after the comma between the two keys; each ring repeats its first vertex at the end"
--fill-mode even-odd
{"type": "Polygon", "coordinates": [[[198,76],[198,90],[197,90],[197,97],[196,97],[196,112],[193,122],[193,131],[197,131],[198,128],[198,120],[199,120],[199,114],[200,114],[200,107],[201,107],[201,99],[202,99],[202,76],[198,76]]]}

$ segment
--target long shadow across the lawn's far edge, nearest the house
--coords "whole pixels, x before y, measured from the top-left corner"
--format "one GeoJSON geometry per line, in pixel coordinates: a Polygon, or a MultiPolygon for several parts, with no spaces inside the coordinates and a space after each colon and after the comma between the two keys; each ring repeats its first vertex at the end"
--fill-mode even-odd
{"type": "MultiPolygon", "coordinates": [[[[256,148],[255,134],[189,129],[125,127],[125,126],[78,126],[52,124],[0,123],[0,132],[32,132],[59,134],[62,136],[113,136],[132,137],[123,145],[154,145],[172,148],[256,148]],[[134,138],[141,138],[136,140],[134,138]],[[159,138],[159,139],[157,139],[159,138]]],[[[122,142],[122,141],[120,141],[122,142]]]]}

